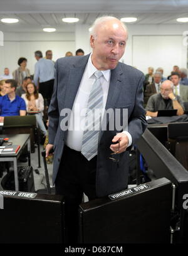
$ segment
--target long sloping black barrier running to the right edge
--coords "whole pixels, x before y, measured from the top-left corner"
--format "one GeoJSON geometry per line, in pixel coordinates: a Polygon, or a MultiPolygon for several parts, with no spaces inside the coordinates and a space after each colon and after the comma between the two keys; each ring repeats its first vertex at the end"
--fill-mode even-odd
{"type": "Polygon", "coordinates": [[[138,150],[157,178],[165,177],[177,186],[175,205],[182,209],[183,196],[188,193],[188,171],[172,154],[146,129],[137,142],[138,150]]]}

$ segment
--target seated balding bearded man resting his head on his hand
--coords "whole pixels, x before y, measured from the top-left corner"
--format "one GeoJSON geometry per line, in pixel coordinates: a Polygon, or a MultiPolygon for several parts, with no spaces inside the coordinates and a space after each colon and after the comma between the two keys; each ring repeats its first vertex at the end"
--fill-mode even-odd
{"type": "Polygon", "coordinates": [[[170,80],[165,80],[160,85],[160,93],[152,95],[145,107],[146,115],[157,117],[158,110],[177,109],[177,115],[184,114],[184,103],[179,95],[173,93],[174,85],[170,80]]]}

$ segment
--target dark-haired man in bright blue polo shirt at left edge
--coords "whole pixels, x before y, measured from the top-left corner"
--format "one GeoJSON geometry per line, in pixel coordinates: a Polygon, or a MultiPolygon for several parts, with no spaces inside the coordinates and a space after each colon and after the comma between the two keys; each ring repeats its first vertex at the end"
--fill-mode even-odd
{"type": "Polygon", "coordinates": [[[2,117],[6,117],[8,115],[26,115],[26,104],[21,97],[16,95],[16,87],[16,80],[6,80],[4,85],[6,95],[0,97],[1,122],[3,121],[2,117]]]}

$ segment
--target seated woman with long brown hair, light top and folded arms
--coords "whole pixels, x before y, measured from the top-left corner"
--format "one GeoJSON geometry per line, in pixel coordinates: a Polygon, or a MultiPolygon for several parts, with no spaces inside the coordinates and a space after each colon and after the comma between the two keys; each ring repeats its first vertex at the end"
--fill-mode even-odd
{"type": "Polygon", "coordinates": [[[39,129],[41,129],[44,136],[46,136],[47,131],[43,122],[44,99],[41,93],[38,93],[34,83],[28,83],[26,93],[21,95],[21,97],[26,102],[28,115],[35,114],[39,129]]]}

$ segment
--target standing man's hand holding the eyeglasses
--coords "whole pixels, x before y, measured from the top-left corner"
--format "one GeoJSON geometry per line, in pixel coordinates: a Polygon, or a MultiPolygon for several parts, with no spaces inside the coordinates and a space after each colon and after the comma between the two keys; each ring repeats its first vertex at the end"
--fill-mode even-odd
{"type": "Polygon", "coordinates": [[[116,144],[111,144],[110,149],[113,152],[117,152],[118,154],[125,152],[128,146],[128,137],[123,132],[120,132],[116,136],[113,137],[112,142],[117,142],[116,144]],[[118,150],[118,141],[120,142],[120,149],[118,150]]]}

